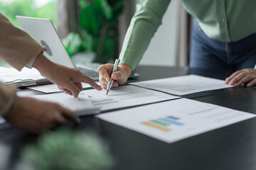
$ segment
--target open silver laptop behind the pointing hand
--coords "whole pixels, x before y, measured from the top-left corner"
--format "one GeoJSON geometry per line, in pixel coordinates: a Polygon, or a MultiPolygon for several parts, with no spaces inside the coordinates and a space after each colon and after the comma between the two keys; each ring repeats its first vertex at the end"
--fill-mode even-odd
{"type": "Polygon", "coordinates": [[[65,65],[80,70],[82,74],[97,81],[99,73],[97,67],[100,64],[91,64],[92,67],[86,67],[80,64],[74,64],[65,50],[65,47],[55,30],[53,23],[46,18],[32,18],[26,16],[16,16],[21,28],[26,31],[39,44],[45,46],[47,51],[43,54],[52,62],[65,65]]]}

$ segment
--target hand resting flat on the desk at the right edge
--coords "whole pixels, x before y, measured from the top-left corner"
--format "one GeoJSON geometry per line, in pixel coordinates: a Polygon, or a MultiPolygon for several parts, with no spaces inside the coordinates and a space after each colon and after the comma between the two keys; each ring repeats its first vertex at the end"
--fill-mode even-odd
{"type": "Polygon", "coordinates": [[[225,84],[230,84],[231,86],[241,86],[245,83],[247,83],[248,87],[255,86],[256,69],[242,69],[225,79],[225,84]]]}

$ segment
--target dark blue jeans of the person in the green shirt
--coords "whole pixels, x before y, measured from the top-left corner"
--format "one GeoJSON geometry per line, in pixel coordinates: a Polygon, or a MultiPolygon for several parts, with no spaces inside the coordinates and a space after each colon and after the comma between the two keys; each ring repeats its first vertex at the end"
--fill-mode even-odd
{"type": "Polygon", "coordinates": [[[197,21],[191,35],[191,68],[239,69],[254,68],[256,64],[256,33],[237,42],[220,42],[208,38],[197,21]]]}

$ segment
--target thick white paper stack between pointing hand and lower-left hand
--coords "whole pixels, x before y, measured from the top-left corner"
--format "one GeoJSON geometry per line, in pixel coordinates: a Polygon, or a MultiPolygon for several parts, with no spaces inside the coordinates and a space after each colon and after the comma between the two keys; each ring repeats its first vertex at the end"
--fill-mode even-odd
{"type": "Polygon", "coordinates": [[[76,115],[94,115],[100,113],[100,108],[94,107],[87,96],[79,96],[78,98],[74,98],[68,94],[60,93],[36,95],[30,97],[37,98],[41,101],[58,103],[64,108],[68,108],[71,111],[74,111],[76,115]]]}

